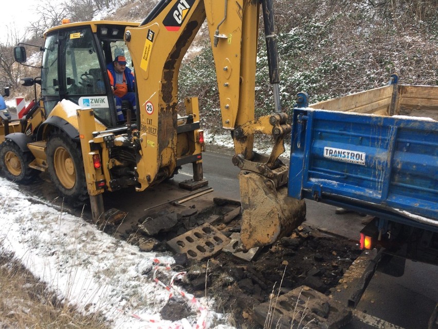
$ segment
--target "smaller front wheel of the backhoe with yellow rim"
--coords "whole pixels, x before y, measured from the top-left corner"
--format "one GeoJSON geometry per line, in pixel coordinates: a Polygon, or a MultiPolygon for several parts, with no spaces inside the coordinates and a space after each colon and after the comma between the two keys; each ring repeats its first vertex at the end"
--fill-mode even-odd
{"type": "Polygon", "coordinates": [[[32,153],[20,149],[20,147],[6,140],[0,151],[0,165],[7,179],[18,183],[28,183],[35,178],[38,170],[29,168],[33,161],[32,153]]]}

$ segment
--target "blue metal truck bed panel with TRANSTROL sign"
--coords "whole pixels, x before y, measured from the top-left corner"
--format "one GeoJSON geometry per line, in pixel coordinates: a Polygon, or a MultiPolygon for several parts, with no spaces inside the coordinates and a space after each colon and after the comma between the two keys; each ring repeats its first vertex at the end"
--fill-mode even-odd
{"type": "Polygon", "coordinates": [[[288,195],[438,231],[438,122],[296,108],[288,195]]]}

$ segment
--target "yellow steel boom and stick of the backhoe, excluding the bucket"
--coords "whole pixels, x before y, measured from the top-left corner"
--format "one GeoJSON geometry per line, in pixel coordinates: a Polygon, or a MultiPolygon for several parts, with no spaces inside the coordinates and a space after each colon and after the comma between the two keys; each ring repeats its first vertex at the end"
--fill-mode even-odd
{"type": "MultiPolygon", "coordinates": [[[[174,14],[172,10],[180,1],[173,0],[151,22],[135,28],[128,27],[125,31],[125,37],[129,36],[125,41],[136,67],[137,84],[141,85],[137,105],[140,108],[139,127],[144,152],[137,167],[140,190],[154,181],[159,170],[166,168],[173,172],[175,169],[179,67],[206,19],[217,72],[223,127],[233,130],[254,118],[260,5],[250,0],[229,4],[225,1],[195,0],[184,12],[180,27],[169,29],[163,22],[174,14]],[[220,36],[216,46],[215,34],[220,36]]],[[[252,134],[234,140],[234,146],[236,153],[250,159],[252,134]]]]}

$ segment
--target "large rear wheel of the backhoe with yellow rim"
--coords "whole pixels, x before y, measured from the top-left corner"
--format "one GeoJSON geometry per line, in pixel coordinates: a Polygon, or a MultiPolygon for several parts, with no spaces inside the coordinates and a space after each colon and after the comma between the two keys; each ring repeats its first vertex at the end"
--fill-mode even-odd
{"type": "Polygon", "coordinates": [[[81,206],[88,197],[82,152],[79,143],[63,133],[55,133],[47,143],[47,164],[50,179],[64,200],[81,206]]]}

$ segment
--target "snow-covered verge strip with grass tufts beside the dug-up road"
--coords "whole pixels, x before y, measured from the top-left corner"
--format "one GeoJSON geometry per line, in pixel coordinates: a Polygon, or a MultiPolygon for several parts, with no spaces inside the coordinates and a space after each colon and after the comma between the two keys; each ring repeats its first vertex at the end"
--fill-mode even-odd
{"type": "Polygon", "coordinates": [[[14,252],[61,300],[83,313],[101,312],[114,328],[233,328],[228,315],[209,310],[213,300],[195,299],[177,287],[184,274],[168,266],[171,256],[140,252],[94,224],[24,195],[4,178],[0,222],[0,248],[14,252]],[[163,320],[161,310],[170,298],[186,303],[191,315],[163,320]]]}

